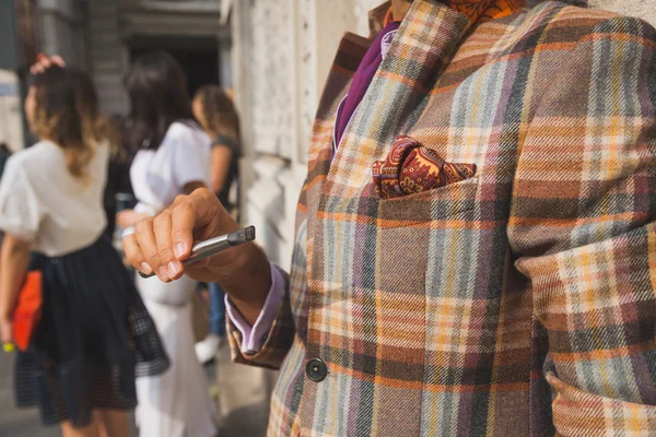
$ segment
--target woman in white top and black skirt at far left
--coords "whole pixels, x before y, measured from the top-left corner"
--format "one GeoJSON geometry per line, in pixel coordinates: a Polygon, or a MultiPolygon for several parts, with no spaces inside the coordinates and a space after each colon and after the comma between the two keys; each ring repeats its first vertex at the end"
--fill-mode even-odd
{"type": "Polygon", "coordinates": [[[0,332],[27,270],[43,275],[43,317],[16,355],[19,406],[39,406],[65,436],[127,436],[134,378],[166,370],[155,326],[109,240],[103,209],[108,144],[89,76],[50,67],[25,101],[40,141],[15,153],[0,184],[0,332]],[[33,252],[32,261],[31,251],[33,252]]]}

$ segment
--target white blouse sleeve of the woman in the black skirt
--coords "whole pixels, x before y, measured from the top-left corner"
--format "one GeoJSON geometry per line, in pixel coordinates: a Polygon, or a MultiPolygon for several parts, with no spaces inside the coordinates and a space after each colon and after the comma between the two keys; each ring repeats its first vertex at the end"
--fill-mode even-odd
{"type": "Polygon", "coordinates": [[[31,243],[36,238],[44,213],[24,162],[16,158],[9,158],[0,181],[0,229],[31,243]]]}

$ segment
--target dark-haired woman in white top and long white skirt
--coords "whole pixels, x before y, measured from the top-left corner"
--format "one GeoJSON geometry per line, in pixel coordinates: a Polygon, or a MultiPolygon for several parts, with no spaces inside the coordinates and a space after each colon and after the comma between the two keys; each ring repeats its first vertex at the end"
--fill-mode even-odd
{"type": "MultiPolygon", "coordinates": [[[[165,52],[138,58],[126,78],[131,102],[127,125],[130,145],[139,149],[130,168],[139,203],[117,216],[122,227],[143,224],[172,204],[179,194],[210,185],[211,140],[195,122],[185,75],[165,52]]],[[[148,238],[148,237],[145,237],[148,238]]],[[[150,272],[148,265],[142,271],[150,272]]],[[[157,377],[138,381],[137,424],[144,437],[213,437],[214,408],[207,376],[196,358],[191,296],[196,282],[169,282],[166,269],[159,277],[137,277],[137,286],[162,335],[172,362],[157,377]]]]}

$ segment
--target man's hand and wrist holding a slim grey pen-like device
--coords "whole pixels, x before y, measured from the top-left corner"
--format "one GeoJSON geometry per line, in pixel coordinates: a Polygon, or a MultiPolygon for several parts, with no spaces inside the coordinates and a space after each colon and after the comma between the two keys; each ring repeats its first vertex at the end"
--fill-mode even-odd
{"type": "Polygon", "coordinates": [[[128,261],[143,273],[169,282],[187,274],[198,281],[218,282],[242,315],[254,323],[271,287],[270,264],[254,244],[233,247],[212,258],[183,265],[195,241],[237,231],[234,218],[216,196],[206,188],[175,202],[155,217],[139,221],[134,234],[124,238],[128,261]]]}

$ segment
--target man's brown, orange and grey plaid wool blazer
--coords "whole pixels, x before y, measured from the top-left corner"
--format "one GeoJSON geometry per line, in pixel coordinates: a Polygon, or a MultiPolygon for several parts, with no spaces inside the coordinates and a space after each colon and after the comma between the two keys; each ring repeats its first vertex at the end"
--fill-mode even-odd
{"type": "Polygon", "coordinates": [[[281,368],[270,435],[656,435],[656,31],[414,0],[333,156],[370,44],[340,44],[261,351],[231,327],[281,368]],[[476,175],[382,199],[400,134],[476,175]]]}

